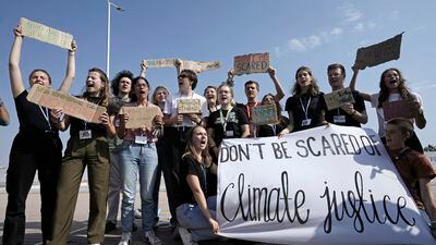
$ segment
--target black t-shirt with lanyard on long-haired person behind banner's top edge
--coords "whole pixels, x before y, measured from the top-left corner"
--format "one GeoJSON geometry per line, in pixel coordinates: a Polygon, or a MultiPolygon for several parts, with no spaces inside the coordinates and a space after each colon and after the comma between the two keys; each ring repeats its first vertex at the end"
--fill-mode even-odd
{"type": "Polygon", "coordinates": [[[326,106],[324,102],[324,94],[319,93],[316,96],[312,96],[308,94],[294,95],[288,98],[286,102],[284,110],[288,112],[292,112],[293,115],[293,131],[302,131],[312,127],[316,127],[320,123],[320,114],[322,111],[326,110],[326,106]],[[308,108],[307,108],[307,103],[308,108]],[[305,110],[307,112],[307,119],[311,119],[311,123],[308,125],[302,125],[303,120],[306,119],[305,110]]]}

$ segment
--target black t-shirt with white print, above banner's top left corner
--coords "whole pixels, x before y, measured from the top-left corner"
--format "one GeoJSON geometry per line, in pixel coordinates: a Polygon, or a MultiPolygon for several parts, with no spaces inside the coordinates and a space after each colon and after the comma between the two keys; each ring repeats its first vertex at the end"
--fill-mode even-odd
{"type": "Polygon", "coordinates": [[[249,124],[246,113],[238,107],[231,109],[230,112],[222,110],[222,119],[220,114],[221,110],[211,112],[207,119],[207,128],[214,128],[214,140],[219,146],[222,138],[240,138],[242,136],[242,125],[249,124]],[[228,113],[230,113],[228,115],[228,113]],[[226,132],[233,132],[228,135],[223,130],[223,124],[227,119],[226,132]]]}

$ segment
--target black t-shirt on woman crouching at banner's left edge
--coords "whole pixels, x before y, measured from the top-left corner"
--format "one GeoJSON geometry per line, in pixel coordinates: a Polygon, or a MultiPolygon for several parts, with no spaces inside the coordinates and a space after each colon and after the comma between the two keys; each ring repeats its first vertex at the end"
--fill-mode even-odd
{"type": "Polygon", "coordinates": [[[187,174],[198,177],[205,198],[207,197],[206,169],[191,156],[185,156],[180,162],[180,189],[178,191],[180,200],[177,206],[181,204],[196,204],[194,194],[186,181],[187,174]]]}

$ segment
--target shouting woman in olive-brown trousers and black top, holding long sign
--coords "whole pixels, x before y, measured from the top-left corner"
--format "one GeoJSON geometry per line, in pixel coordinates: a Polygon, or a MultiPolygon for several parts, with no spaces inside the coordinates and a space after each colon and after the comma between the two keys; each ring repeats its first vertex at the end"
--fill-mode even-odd
{"type": "MultiPolygon", "coordinates": [[[[86,90],[82,98],[102,107],[108,106],[109,81],[100,69],[90,69],[86,78],[86,90]]],[[[74,117],[62,117],[61,110],[52,113],[58,128],[70,127],[70,139],[62,159],[58,183],[58,199],[55,209],[52,245],[68,242],[78,189],[85,168],[88,172],[89,219],[87,238],[89,244],[100,244],[105,238],[106,200],[109,186],[108,136],[116,134],[107,112],[99,117],[100,123],[89,123],[74,117]]]]}

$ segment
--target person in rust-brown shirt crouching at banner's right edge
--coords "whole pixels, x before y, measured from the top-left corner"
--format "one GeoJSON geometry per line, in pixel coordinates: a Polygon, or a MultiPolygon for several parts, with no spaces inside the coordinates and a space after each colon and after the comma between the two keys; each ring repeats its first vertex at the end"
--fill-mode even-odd
{"type": "Polygon", "coordinates": [[[408,119],[391,119],[386,125],[387,150],[405,186],[412,195],[420,213],[436,234],[436,206],[431,192],[431,181],[436,171],[427,157],[405,147],[413,134],[413,124],[408,119]]]}

